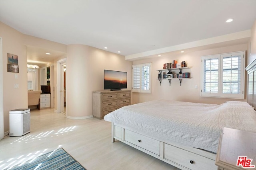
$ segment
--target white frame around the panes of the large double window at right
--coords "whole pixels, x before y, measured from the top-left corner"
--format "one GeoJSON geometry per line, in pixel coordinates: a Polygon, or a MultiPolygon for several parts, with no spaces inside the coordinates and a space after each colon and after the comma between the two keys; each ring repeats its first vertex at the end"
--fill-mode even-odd
{"type": "MultiPolygon", "coordinates": [[[[201,60],[201,97],[216,97],[216,98],[232,98],[232,99],[244,99],[244,88],[245,88],[245,51],[237,51],[232,53],[222,53],[217,55],[208,55],[202,56],[201,60]],[[228,57],[241,56],[240,64],[240,93],[223,93],[223,60],[228,57]],[[218,92],[204,92],[205,85],[205,70],[204,70],[204,61],[209,59],[218,59],[218,92]]],[[[231,69],[232,70],[232,69],[231,69]]],[[[238,82],[239,82],[238,81],[238,82]]],[[[239,84],[239,83],[238,83],[239,84]]]]}

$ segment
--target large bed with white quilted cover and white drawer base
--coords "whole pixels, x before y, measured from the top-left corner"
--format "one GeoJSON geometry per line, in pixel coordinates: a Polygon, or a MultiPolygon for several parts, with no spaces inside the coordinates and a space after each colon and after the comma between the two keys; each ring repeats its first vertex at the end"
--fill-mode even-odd
{"type": "Polygon", "coordinates": [[[256,132],[256,111],[246,102],[201,104],[154,100],[104,117],[117,139],[182,170],[216,170],[223,127],[256,132]]]}

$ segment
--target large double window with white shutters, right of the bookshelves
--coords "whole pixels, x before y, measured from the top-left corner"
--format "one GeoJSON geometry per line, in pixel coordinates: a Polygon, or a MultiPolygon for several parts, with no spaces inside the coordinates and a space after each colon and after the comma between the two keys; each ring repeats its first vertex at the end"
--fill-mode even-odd
{"type": "Polygon", "coordinates": [[[244,99],[244,54],[203,56],[201,96],[244,99]]]}

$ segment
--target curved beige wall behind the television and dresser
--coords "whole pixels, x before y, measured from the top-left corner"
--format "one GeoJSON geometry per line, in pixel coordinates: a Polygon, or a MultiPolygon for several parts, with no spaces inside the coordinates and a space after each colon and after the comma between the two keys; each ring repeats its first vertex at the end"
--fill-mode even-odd
{"type": "Polygon", "coordinates": [[[87,45],[68,45],[67,116],[92,116],[92,92],[104,89],[104,69],[128,72],[127,88],[132,86],[132,62],[122,55],[87,45]]]}

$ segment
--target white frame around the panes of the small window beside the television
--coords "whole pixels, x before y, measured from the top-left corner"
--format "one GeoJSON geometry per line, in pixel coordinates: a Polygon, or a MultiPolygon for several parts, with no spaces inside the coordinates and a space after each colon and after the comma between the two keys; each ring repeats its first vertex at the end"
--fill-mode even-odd
{"type": "Polygon", "coordinates": [[[132,92],[138,92],[138,93],[151,93],[151,80],[152,80],[152,63],[144,63],[144,64],[134,64],[132,65],[132,92]],[[144,66],[149,66],[149,70],[148,70],[148,88],[149,89],[143,89],[142,88],[142,68],[144,66]],[[139,72],[139,76],[135,77],[134,74],[134,70],[136,70],[136,74],[138,75],[139,72]],[[139,71],[138,71],[139,70],[139,71]]]}

